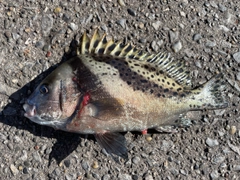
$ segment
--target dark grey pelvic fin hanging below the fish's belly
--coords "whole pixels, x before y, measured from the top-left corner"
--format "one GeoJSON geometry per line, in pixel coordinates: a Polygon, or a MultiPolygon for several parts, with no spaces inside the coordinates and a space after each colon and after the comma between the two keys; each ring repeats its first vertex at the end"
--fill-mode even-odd
{"type": "MultiPolygon", "coordinates": [[[[126,148],[125,137],[117,132],[105,132],[95,134],[97,142],[103,147],[111,156],[117,155],[124,159],[128,158],[128,151],[126,148]]],[[[114,160],[116,160],[114,158],[114,160]]]]}

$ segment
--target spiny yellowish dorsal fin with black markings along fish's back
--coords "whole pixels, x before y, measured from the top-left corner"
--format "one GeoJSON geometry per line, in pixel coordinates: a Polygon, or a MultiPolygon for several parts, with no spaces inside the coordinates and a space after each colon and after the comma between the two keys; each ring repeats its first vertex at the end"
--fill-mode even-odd
{"type": "Polygon", "coordinates": [[[131,44],[123,44],[122,41],[115,42],[113,39],[107,40],[106,34],[100,36],[98,29],[94,31],[91,38],[86,32],[81,37],[78,54],[106,54],[115,57],[125,57],[129,59],[145,61],[155,65],[159,71],[166,73],[185,89],[192,88],[190,71],[185,67],[183,61],[176,61],[170,57],[169,53],[149,54],[136,49],[131,44]]]}

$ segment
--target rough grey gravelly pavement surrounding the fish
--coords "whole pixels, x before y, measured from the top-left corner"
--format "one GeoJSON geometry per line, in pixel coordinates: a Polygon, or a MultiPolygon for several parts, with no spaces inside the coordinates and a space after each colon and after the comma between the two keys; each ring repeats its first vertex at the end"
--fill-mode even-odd
{"type": "Polygon", "coordinates": [[[239,179],[239,0],[0,0],[1,179],[239,179]],[[128,132],[117,164],[93,136],[30,122],[22,105],[96,27],[148,52],[184,59],[195,85],[223,72],[229,107],[188,113],[178,133],[128,132]]]}

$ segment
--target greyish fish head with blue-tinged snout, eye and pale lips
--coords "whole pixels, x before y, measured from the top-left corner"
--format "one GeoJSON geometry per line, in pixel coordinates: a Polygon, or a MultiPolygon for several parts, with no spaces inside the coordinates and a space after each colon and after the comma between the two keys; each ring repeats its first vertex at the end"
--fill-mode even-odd
{"type": "Polygon", "coordinates": [[[68,63],[60,65],[26,100],[24,116],[35,123],[62,129],[79,109],[82,99],[74,76],[74,70],[68,63]]]}

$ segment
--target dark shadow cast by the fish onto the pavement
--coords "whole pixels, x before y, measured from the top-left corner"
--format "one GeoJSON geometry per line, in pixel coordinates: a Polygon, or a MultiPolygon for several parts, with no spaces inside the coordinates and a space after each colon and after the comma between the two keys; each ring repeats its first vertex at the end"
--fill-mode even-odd
{"type": "MultiPolygon", "coordinates": [[[[72,40],[70,46],[74,47],[76,45],[76,41],[72,40]]],[[[70,59],[71,57],[74,57],[74,55],[72,54],[73,53],[71,52],[65,53],[59,64],[70,59]]],[[[55,159],[56,162],[59,164],[78,147],[78,145],[81,143],[81,139],[85,138],[85,135],[56,131],[51,127],[38,125],[24,117],[23,104],[30,95],[28,94],[29,90],[33,92],[36,86],[48,74],[50,74],[54,69],[56,69],[59,64],[56,64],[47,69],[46,71],[42,72],[34,80],[27,83],[21,89],[8,96],[9,103],[0,112],[0,123],[15,127],[19,130],[29,131],[35,136],[54,138],[57,140],[57,142],[53,145],[52,151],[49,155],[49,165],[53,159],[55,159]]],[[[94,137],[88,136],[88,139],[94,139],[94,137]]]]}

